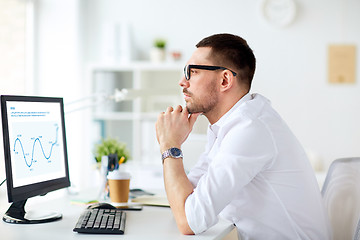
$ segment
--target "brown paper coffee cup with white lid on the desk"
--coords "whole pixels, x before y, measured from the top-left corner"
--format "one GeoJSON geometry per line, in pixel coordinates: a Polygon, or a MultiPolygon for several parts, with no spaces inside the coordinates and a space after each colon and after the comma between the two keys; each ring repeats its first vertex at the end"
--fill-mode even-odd
{"type": "Polygon", "coordinates": [[[110,200],[114,203],[126,203],[129,200],[130,174],[112,171],[107,176],[110,200]]]}

